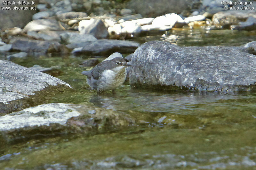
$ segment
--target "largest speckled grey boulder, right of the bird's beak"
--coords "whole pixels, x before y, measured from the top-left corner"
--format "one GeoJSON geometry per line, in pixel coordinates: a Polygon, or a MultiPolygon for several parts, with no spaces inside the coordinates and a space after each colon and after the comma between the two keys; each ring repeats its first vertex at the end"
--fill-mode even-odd
{"type": "Polygon", "coordinates": [[[256,56],[234,47],[180,47],[150,41],[132,55],[132,87],[240,91],[256,90],[256,56]]]}

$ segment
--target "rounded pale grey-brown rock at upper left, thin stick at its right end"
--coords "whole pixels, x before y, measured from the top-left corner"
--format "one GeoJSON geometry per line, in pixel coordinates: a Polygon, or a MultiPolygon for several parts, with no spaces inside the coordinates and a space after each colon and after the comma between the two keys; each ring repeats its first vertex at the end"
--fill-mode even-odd
{"type": "Polygon", "coordinates": [[[54,19],[37,19],[30,21],[23,29],[22,32],[28,31],[42,31],[42,30],[50,30],[50,31],[58,31],[67,29],[69,26],[58,22],[54,19]],[[60,26],[61,25],[61,26],[60,26]]]}

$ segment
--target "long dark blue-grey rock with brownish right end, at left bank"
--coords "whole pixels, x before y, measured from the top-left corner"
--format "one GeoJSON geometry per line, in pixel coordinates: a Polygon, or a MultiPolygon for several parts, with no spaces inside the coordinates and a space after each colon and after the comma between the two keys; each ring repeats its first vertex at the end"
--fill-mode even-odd
{"type": "Polygon", "coordinates": [[[14,40],[12,43],[12,50],[27,53],[68,53],[68,49],[58,42],[31,39],[14,40]]]}

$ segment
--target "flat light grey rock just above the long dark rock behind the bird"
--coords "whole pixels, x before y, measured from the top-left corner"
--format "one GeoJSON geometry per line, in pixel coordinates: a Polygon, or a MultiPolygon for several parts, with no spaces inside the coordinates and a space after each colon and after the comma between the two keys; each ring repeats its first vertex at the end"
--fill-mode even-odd
{"type": "Polygon", "coordinates": [[[85,41],[96,41],[97,39],[91,34],[79,34],[79,32],[65,32],[60,34],[64,44],[79,43],[85,41]]]}

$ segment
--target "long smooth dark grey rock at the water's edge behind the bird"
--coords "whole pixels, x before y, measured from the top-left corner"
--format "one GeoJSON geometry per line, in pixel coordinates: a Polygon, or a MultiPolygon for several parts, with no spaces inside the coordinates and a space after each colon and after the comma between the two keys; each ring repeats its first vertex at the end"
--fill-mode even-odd
{"type": "Polygon", "coordinates": [[[71,49],[83,47],[80,48],[79,51],[78,49],[74,49],[72,53],[75,54],[83,53],[92,55],[108,55],[112,54],[113,52],[131,53],[134,52],[139,45],[139,43],[133,41],[99,39],[96,41],[68,44],[67,47],[71,49]]]}

